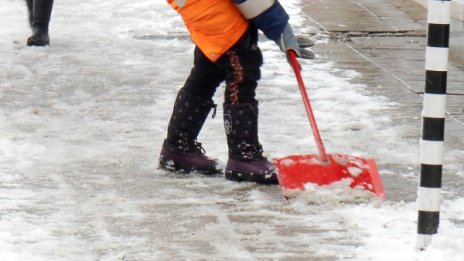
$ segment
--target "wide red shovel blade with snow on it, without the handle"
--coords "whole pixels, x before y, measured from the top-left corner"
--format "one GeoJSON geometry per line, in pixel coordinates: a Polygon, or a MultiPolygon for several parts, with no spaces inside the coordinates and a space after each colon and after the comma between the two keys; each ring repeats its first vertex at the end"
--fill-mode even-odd
{"type": "Polygon", "coordinates": [[[361,186],[379,197],[384,197],[382,181],[373,159],[332,154],[323,162],[315,155],[293,155],[274,159],[279,184],[287,195],[292,190],[305,190],[306,183],[329,185],[351,179],[350,187],[361,186]]]}

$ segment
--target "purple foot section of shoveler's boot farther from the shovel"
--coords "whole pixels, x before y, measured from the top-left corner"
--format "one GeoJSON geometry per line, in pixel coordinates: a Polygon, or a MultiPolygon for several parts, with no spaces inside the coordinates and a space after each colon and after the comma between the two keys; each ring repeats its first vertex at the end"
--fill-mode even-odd
{"type": "Polygon", "coordinates": [[[173,172],[199,172],[202,174],[218,174],[222,168],[218,167],[215,159],[205,155],[200,143],[190,146],[176,146],[163,143],[159,158],[159,167],[173,172]]]}

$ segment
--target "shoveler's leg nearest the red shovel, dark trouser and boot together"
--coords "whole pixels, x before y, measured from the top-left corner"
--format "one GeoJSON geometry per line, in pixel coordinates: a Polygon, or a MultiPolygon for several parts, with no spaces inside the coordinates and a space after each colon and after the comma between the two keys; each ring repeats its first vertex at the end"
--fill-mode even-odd
{"type": "Polygon", "coordinates": [[[255,99],[255,90],[261,77],[262,62],[254,27],[220,61],[227,71],[224,127],[229,159],[225,176],[239,182],[277,184],[274,166],[263,157],[258,138],[258,101],[255,99]]]}

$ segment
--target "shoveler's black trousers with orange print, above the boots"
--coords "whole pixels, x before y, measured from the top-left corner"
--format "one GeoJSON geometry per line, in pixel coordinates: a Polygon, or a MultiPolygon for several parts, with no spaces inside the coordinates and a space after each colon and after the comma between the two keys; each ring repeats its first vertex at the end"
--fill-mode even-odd
{"type": "Polygon", "coordinates": [[[205,100],[211,100],[217,87],[225,81],[225,103],[238,104],[254,102],[260,67],[263,63],[258,48],[258,30],[250,25],[240,40],[216,62],[210,61],[196,47],[194,67],[183,89],[205,100]]]}

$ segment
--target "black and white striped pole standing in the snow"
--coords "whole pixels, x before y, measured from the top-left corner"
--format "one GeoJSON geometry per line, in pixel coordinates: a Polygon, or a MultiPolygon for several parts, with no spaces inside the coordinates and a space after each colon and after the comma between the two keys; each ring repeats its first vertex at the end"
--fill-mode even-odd
{"type": "Polygon", "coordinates": [[[420,140],[417,248],[425,250],[438,232],[445,133],[446,84],[450,32],[450,0],[429,0],[425,93],[420,140]]]}

